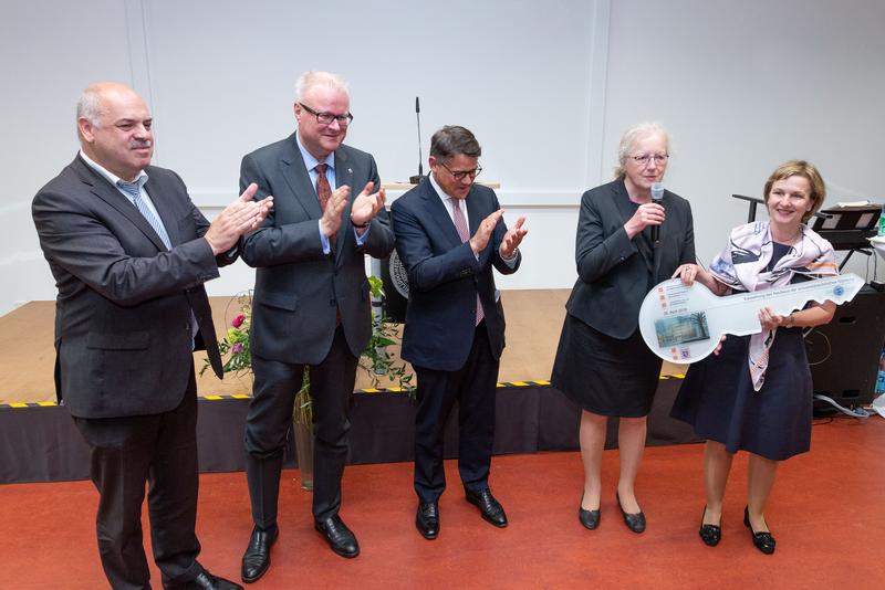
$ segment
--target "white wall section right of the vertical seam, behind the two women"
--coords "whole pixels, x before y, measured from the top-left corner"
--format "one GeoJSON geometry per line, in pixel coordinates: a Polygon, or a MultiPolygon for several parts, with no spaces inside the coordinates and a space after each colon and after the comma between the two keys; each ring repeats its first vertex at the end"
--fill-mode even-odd
{"type": "Polygon", "coordinates": [[[761,197],[784,160],[820,168],[826,203],[882,202],[884,24],[881,0],[615,0],[606,157],[634,119],[668,126],[705,264],[747,220],[730,196],[761,197]]]}

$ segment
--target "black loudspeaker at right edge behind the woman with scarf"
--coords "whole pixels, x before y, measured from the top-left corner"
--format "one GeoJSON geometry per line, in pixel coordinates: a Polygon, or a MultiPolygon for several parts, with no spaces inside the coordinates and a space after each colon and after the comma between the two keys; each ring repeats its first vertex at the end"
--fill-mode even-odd
{"type": "Polygon", "coordinates": [[[805,336],[814,393],[844,407],[875,397],[878,359],[885,343],[885,293],[868,285],[836,307],[830,324],[805,336]]]}

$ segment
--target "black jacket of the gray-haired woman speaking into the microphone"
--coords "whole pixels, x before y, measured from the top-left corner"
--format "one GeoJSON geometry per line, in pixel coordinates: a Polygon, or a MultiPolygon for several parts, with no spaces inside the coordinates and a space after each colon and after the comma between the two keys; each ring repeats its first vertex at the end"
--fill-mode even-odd
{"type": "Polygon", "coordinates": [[[627,338],[638,326],[639,306],[648,293],[648,273],[659,256],[653,283],[669,278],[676,267],[695,262],[695,232],[688,201],[664,191],[667,219],[660,225],[657,254],[638,235],[627,238],[624,223],[633,215],[623,179],[581,197],[575,260],[577,282],[565,308],[613,338],[627,338]]]}

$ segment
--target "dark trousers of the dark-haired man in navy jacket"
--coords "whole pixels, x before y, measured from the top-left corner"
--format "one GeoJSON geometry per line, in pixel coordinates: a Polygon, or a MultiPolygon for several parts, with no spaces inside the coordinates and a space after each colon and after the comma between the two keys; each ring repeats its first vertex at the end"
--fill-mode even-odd
{"type": "Polygon", "coordinates": [[[415,492],[437,502],[446,488],[442,435],[458,401],[458,472],[465,488],[488,487],[494,443],[494,392],[498,360],[491,355],[486,324],[473,333],[467,362],[457,371],[415,367],[418,413],[415,418],[415,492]]]}

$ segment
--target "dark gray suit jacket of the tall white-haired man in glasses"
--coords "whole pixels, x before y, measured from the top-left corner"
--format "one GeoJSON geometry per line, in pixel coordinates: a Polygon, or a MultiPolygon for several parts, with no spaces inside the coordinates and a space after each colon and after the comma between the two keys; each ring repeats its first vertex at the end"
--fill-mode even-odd
{"type": "Polygon", "coordinates": [[[295,135],[264,146],[242,159],[240,187],[258,183],[256,199],[273,196],[273,209],[261,228],[247,235],[242,259],[256,273],[251,350],[267,359],[317,365],[335,335],[335,309],[347,346],[358,357],[372,331],[364,254],[383,259],[394,245],[387,212],[372,220],[368,239],[356,245],[351,203],[369,180],[379,188],[374,158],[342,145],[335,151],[337,186],[351,187],[333,252],[323,254],[316,189],[295,135]]]}

